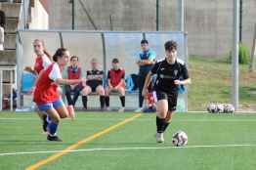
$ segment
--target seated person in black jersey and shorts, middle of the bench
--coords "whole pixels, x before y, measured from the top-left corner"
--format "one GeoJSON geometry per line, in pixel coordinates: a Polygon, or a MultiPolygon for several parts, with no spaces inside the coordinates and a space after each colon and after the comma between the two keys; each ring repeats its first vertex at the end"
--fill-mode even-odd
{"type": "Polygon", "coordinates": [[[91,61],[92,69],[86,72],[86,86],[83,90],[82,102],[87,109],[87,96],[92,92],[100,95],[101,109],[105,106],[104,71],[98,68],[98,61],[94,58],[91,61]]]}

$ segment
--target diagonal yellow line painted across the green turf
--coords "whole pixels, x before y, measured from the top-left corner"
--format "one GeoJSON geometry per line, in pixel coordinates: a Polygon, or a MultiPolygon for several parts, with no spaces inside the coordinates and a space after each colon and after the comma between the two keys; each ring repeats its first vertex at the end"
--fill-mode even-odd
{"type": "Polygon", "coordinates": [[[81,146],[81,145],[84,145],[84,144],[86,144],[86,143],[88,143],[88,142],[90,142],[90,141],[93,141],[93,140],[95,140],[96,138],[101,137],[101,136],[107,134],[108,132],[110,132],[110,131],[116,129],[117,127],[122,126],[122,125],[124,125],[124,124],[126,124],[126,123],[128,123],[128,122],[130,122],[130,121],[132,121],[132,120],[134,120],[135,118],[140,117],[141,115],[142,115],[142,114],[139,113],[139,114],[135,114],[135,115],[132,116],[132,117],[126,118],[126,119],[124,119],[123,121],[121,121],[121,122],[119,122],[119,123],[117,123],[117,124],[114,124],[114,125],[108,127],[107,129],[104,129],[104,130],[102,130],[102,131],[100,131],[100,132],[98,132],[98,133],[96,133],[96,134],[94,134],[94,135],[92,135],[92,136],[90,136],[90,137],[88,137],[88,138],[85,138],[84,140],[78,141],[77,143],[75,143],[75,144],[73,144],[73,145],[67,147],[66,149],[63,149],[62,151],[60,151],[60,152],[58,152],[58,153],[56,153],[56,154],[51,155],[50,157],[47,157],[46,159],[40,160],[40,161],[38,161],[37,163],[28,166],[28,167],[25,168],[25,169],[26,169],[26,170],[34,170],[34,169],[37,169],[37,168],[39,168],[40,166],[43,166],[43,165],[45,165],[45,164],[47,164],[47,163],[49,163],[49,162],[51,162],[51,161],[56,160],[57,158],[63,156],[65,153],[68,153],[68,152],[71,151],[72,149],[76,149],[76,148],[78,148],[78,147],[81,146]]]}

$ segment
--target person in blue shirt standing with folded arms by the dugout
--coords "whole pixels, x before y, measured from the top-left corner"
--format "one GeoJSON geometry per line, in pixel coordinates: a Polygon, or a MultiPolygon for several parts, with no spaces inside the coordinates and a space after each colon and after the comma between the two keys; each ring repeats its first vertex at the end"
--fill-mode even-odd
{"type": "Polygon", "coordinates": [[[144,97],[142,96],[142,91],[146,76],[149,73],[152,65],[155,61],[155,52],[149,49],[149,41],[143,39],[141,41],[142,51],[138,55],[137,64],[139,65],[139,75],[138,75],[138,86],[139,86],[139,108],[135,112],[143,111],[144,97]]]}

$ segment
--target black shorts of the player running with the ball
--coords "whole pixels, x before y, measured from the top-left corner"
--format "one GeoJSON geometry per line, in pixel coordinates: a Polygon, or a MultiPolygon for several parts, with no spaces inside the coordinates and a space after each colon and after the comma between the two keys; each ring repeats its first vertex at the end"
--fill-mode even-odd
{"type": "Polygon", "coordinates": [[[176,110],[178,92],[175,91],[175,92],[172,92],[172,93],[165,93],[165,92],[160,91],[160,90],[155,90],[153,92],[153,98],[156,102],[160,101],[160,100],[167,100],[168,110],[169,111],[176,110]]]}

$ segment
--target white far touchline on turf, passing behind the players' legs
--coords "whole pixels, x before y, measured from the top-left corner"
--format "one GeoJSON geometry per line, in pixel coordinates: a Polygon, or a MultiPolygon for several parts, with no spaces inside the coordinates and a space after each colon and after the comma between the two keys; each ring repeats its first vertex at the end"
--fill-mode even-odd
{"type": "MultiPolygon", "coordinates": [[[[229,118],[229,117],[225,117],[229,118]]],[[[143,119],[137,119],[135,121],[152,121],[152,118],[143,118],[143,119]]],[[[9,121],[9,122],[15,122],[15,121],[27,121],[27,120],[36,120],[39,121],[38,118],[9,118],[9,117],[0,117],[1,120],[9,121]]],[[[75,121],[121,121],[125,120],[125,118],[76,118],[75,121]]],[[[69,120],[64,120],[69,121],[69,120]]],[[[237,119],[231,117],[231,119],[183,119],[183,118],[174,118],[172,120],[173,122],[256,122],[256,119],[251,119],[251,117],[248,117],[248,119],[237,119]]],[[[5,122],[6,123],[6,122],[5,122]]]]}

